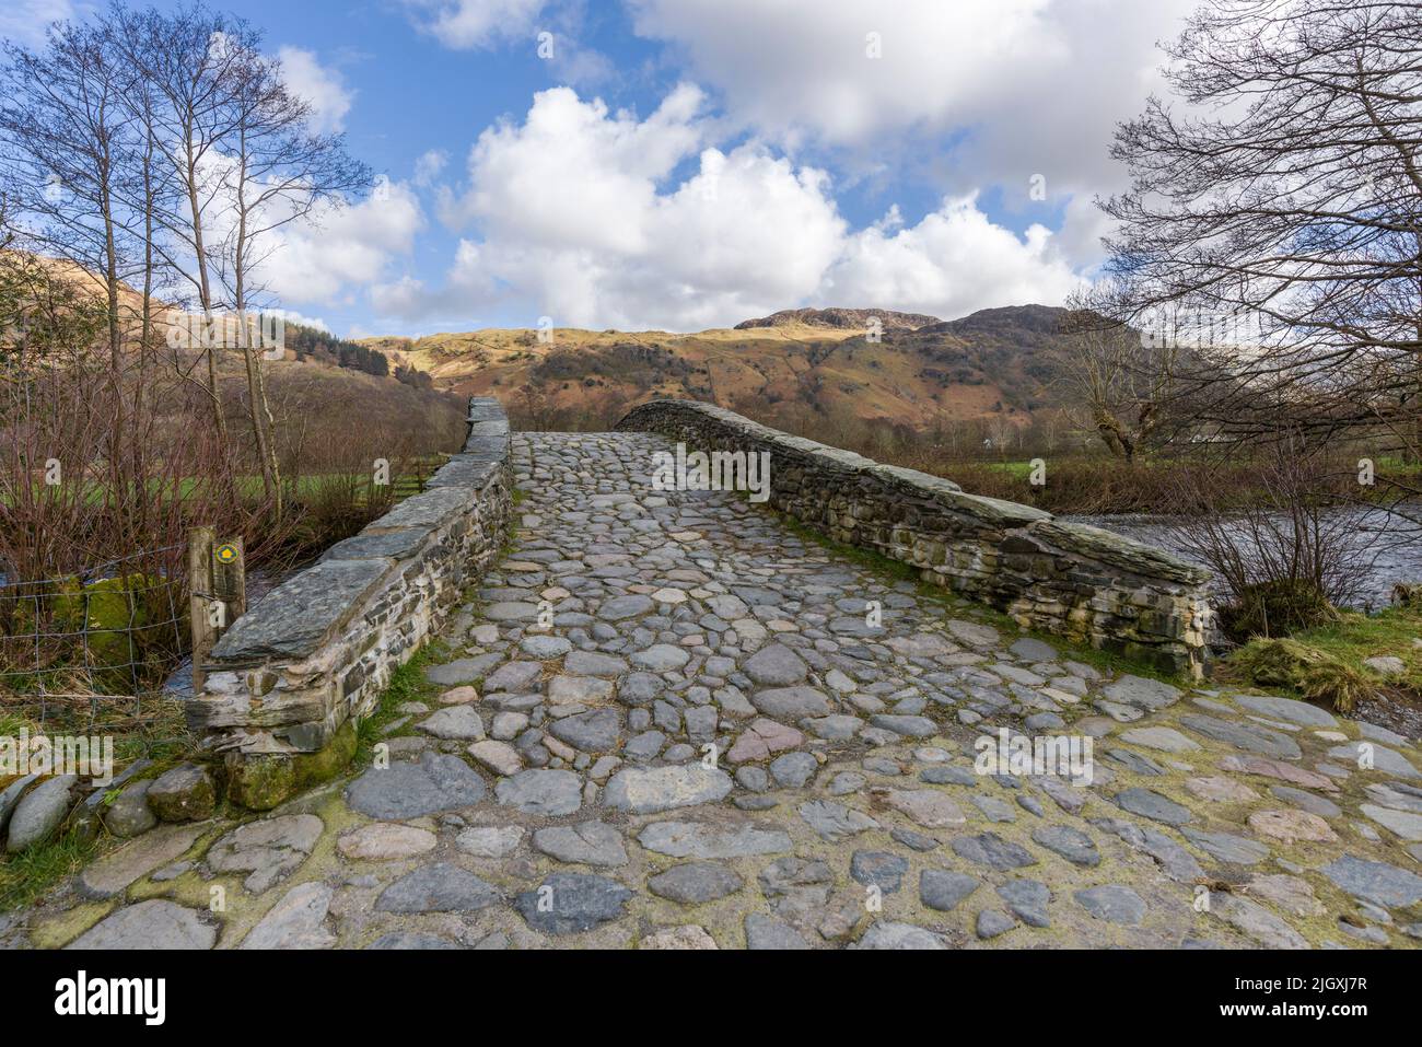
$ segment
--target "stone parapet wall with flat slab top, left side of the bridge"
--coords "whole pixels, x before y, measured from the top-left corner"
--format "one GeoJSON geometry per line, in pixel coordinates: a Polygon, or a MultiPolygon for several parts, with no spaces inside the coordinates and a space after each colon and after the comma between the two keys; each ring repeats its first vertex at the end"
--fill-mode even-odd
{"type": "Polygon", "coordinates": [[[424,492],[333,545],[213,647],[188,718],[226,755],[239,802],[264,807],[303,768],[344,762],[391,673],[498,556],[512,505],[509,422],[496,400],[476,397],[468,424],[464,451],[424,492]]]}

